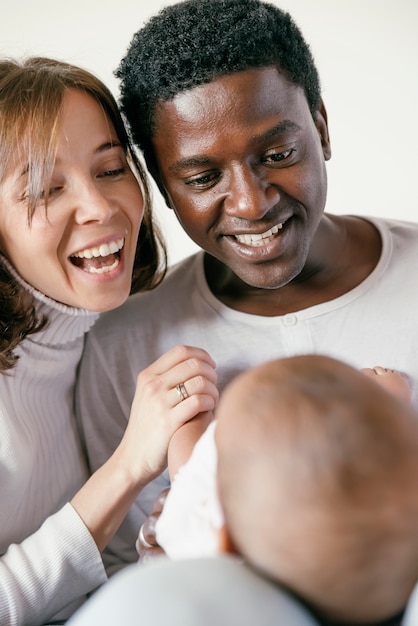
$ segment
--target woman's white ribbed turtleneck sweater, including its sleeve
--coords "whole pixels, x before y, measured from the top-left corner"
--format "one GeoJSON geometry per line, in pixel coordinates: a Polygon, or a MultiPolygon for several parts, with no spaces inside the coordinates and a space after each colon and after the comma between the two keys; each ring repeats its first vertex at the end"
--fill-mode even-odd
{"type": "Polygon", "coordinates": [[[19,346],[17,366],[0,375],[2,626],[41,624],[64,607],[69,616],[106,580],[97,547],[68,504],[88,477],[73,394],[84,334],[97,314],[25,286],[50,323],[19,346]]]}

